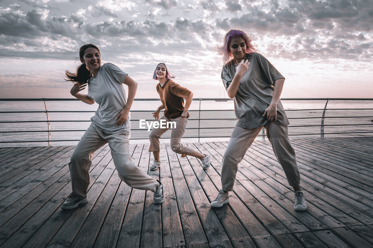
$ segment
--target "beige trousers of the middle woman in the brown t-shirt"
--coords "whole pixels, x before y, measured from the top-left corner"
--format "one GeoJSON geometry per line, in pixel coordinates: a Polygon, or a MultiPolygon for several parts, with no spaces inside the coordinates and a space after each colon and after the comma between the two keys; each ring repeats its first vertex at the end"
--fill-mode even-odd
{"type": "MultiPolygon", "coordinates": [[[[158,121],[159,123],[160,123],[160,120],[166,120],[167,122],[169,122],[169,121],[175,121],[176,122],[176,128],[172,128],[171,141],[170,141],[171,149],[174,152],[182,154],[184,152],[192,153],[194,151],[194,149],[192,149],[191,147],[183,146],[180,143],[181,142],[181,137],[183,136],[183,134],[185,132],[186,123],[188,123],[187,118],[184,118],[184,117],[180,116],[180,117],[175,118],[175,119],[169,119],[169,118],[167,118],[163,115],[159,119],[159,121],[158,121]]],[[[157,151],[160,150],[159,139],[160,139],[161,135],[164,134],[169,129],[170,129],[170,126],[169,126],[169,128],[153,128],[153,130],[151,130],[151,133],[149,135],[149,139],[150,139],[149,152],[157,152],[157,151]]]]}

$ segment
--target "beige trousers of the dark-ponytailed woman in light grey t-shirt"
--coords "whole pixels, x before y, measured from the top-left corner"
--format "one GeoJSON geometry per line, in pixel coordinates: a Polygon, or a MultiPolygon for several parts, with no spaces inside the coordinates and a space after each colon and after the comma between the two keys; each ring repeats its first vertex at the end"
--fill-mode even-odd
{"type": "Polygon", "coordinates": [[[71,155],[69,168],[72,193],[69,197],[86,197],[90,185],[89,170],[93,154],[106,143],[109,143],[115,168],[126,184],[140,190],[156,191],[157,180],[149,177],[132,161],[129,153],[129,132],[104,133],[99,127],[91,124],[71,155]]]}

